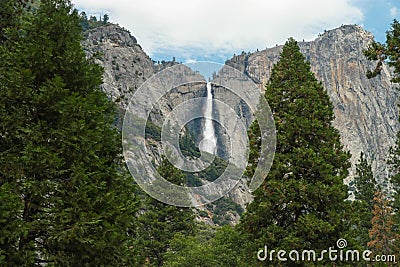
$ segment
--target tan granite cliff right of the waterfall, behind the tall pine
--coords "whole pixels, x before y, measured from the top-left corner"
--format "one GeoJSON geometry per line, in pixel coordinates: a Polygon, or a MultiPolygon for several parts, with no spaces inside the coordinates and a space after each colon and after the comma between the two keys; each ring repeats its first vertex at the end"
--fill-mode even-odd
{"type": "MultiPolygon", "coordinates": [[[[381,76],[366,78],[366,71],[373,69],[374,63],[362,51],[372,40],[372,34],[361,27],[346,25],[326,31],[314,41],[299,42],[299,46],[333,103],[333,125],[340,132],[344,148],[352,154],[350,179],[363,151],[373,161],[375,176],[385,184],[388,149],[399,130],[398,91],[390,82],[386,66],[381,76]]],[[[278,46],[242,54],[226,64],[249,75],[263,90],[281,51],[282,46],[278,46]]]]}

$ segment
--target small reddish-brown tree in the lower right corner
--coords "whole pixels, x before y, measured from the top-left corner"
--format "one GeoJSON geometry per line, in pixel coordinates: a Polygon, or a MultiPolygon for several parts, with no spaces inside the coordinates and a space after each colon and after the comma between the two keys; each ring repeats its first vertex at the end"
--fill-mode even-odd
{"type": "Polygon", "coordinates": [[[381,191],[374,196],[374,210],[371,219],[372,228],[369,231],[368,247],[374,255],[392,255],[395,235],[393,228],[393,214],[390,201],[381,191]]]}

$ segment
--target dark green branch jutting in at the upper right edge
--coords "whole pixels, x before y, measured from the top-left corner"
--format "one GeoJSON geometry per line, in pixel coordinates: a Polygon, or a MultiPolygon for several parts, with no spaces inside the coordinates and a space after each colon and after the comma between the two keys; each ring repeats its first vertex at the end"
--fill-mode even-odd
{"type": "Polygon", "coordinates": [[[394,77],[392,82],[400,82],[400,23],[393,20],[391,28],[386,32],[386,42],[384,44],[373,42],[368,49],[364,51],[364,55],[369,60],[377,60],[376,68],[367,72],[367,77],[372,78],[380,74],[383,62],[387,62],[390,67],[394,68],[394,77]]]}

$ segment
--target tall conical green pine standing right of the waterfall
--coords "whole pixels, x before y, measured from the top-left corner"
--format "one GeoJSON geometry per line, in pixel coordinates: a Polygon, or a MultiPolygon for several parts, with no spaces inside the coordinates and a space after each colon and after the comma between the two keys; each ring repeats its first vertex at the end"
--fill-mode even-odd
{"type": "Polygon", "coordinates": [[[284,45],[265,97],[276,124],[275,158],[239,228],[259,247],[332,246],[342,230],[349,154],[331,124],[329,97],[295,40],[284,45]]]}

